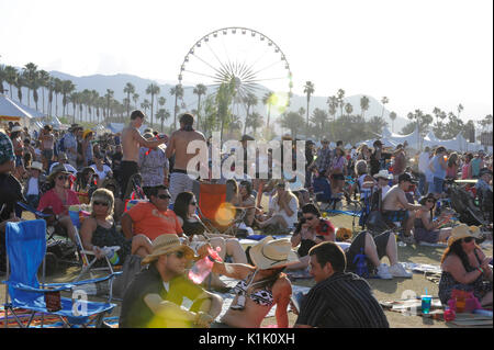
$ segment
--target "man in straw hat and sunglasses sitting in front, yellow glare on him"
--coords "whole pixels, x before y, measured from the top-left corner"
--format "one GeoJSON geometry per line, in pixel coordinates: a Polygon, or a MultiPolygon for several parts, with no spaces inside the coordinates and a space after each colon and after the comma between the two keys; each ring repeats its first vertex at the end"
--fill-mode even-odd
{"type": "Polygon", "coordinates": [[[161,235],[142,264],[148,264],[128,285],[120,314],[121,328],[209,327],[221,313],[222,298],[186,275],[194,251],[177,235],[161,235]]]}

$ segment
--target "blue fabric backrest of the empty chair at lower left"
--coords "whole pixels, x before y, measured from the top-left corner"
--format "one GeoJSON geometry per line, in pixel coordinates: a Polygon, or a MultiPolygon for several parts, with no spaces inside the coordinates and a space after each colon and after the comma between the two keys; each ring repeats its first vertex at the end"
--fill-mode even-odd
{"type": "MultiPolygon", "coordinates": [[[[34,219],[8,223],[5,247],[9,257],[9,281],[40,287],[37,271],[46,253],[46,222],[34,219]]],[[[19,301],[37,298],[40,293],[19,291],[9,285],[9,294],[19,301]]]]}

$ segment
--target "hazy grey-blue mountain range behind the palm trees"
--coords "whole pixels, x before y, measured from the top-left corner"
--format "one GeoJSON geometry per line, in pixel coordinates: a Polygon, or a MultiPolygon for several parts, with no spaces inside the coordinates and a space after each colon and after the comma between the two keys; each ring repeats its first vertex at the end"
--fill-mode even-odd
{"type": "MultiPolygon", "coordinates": [[[[49,75],[55,78],[59,78],[61,80],[70,80],[76,86],[76,91],[82,91],[85,89],[88,90],[96,90],[100,95],[104,95],[106,93],[106,89],[111,89],[114,91],[114,99],[122,101],[124,98],[126,98],[126,94],[123,92],[123,89],[127,82],[131,82],[135,87],[136,93],[139,94],[139,100],[137,102],[137,108],[139,108],[141,103],[144,101],[144,99],[147,99],[150,101],[150,95],[147,95],[145,93],[146,88],[153,82],[157,83],[160,88],[159,97],[166,98],[165,109],[167,109],[171,115],[173,115],[173,109],[175,109],[175,97],[170,94],[170,89],[173,87],[172,83],[159,83],[157,80],[151,79],[145,79],[133,75],[126,75],[126,74],[117,74],[112,76],[105,76],[105,75],[92,75],[92,76],[86,76],[86,77],[76,77],[71,76],[61,71],[49,71],[49,75]]],[[[193,110],[197,108],[197,101],[198,97],[193,94],[192,88],[184,86],[184,95],[183,95],[183,102],[186,104],[184,110],[193,110]]],[[[24,89],[23,89],[24,90],[24,89]]],[[[267,90],[266,90],[267,91],[267,90]]],[[[12,91],[13,98],[16,99],[16,90],[13,88],[12,91]]],[[[38,101],[38,109],[41,110],[41,106],[43,105],[42,100],[42,93],[38,91],[40,101],[38,101]]],[[[265,105],[261,102],[263,92],[258,94],[259,103],[256,108],[254,108],[254,111],[260,113],[261,115],[266,115],[266,109],[265,105]]],[[[23,91],[23,103],[26,103],[26,97],[27,91],[23,91]]],[[[369,109],[366,111],[366,120],[374,116],[374,115],[383,115],[384,120],[389,123],[389,127],[391,129],[392,122],[390,120],[390,113],[391,111],[386,110],[384,108],[383,111],[383,104],[371,95],[367,95],[369,98],[369,109]]],[[[350,95],[345,98],[345,103],[350,103],[353,106],[352,114],[360,114],[360,99],[362,98],[362,94],[357,95],[350,95]]],[[[202,98],[204,99],[204,98],[202,98]]],[[[47,93],[45,93],[45,105],[47,104],[47,93]]],[[[61,98],[58,100],[58,111],[55,113],[55,115],[60,116],[61,115],[61,98]]],[[[156,101],[156,97],[155,97],[156,101]]],[[[328,110],[327,106],[327,97],[318,97],[318,95],[312,95],[311,97],[311,103],[310,103],[310,113],[312,113],[316,108],[319,110],[328,110]]],[[[156,102],[155,102],[156,103],[156,102]]],[[[133,104],[133,102],[132,102],[133,104]]],[[[31,106],[34,105],[34,102],[31,98],[31,106]]],[[[289,110],[291,111],[299,111],[300,108],[306,109],[306,97],[305,95],[297,95],[293,94],[291,99],[291,104],[289,110]]],[[[155,108],[156,109],[156,108],[155,108]]],[[[182,110],[183,111],[183,110],[182,110]]],[[[55,103],[53,105],[53,112],[55,112],[55,103]]],[[[68,113],[71,114],[71,104],[68,106],[68,113]]],[[[336,117],[339,116],[339,109],[337,109],[336,117]]],[[[172,117],[168,121],[168,123],[172,123],[172,117]]],[[[409,121],[403,116],[397,116],[394,121],[394,132],[397,133],[402,129],[403,126],[408,124],[409,121]]]]}

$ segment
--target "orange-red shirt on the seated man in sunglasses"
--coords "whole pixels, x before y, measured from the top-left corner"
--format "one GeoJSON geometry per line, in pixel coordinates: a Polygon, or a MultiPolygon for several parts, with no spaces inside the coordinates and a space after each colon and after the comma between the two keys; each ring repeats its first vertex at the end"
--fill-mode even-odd
{"type": "Polygon", "coordinates": [[[150,202],[138,203],[127,213],[134,224],[134,235],[145,235],[154,240],[160,235],[183,233],[173,211],[160,212],[150,202]]]}

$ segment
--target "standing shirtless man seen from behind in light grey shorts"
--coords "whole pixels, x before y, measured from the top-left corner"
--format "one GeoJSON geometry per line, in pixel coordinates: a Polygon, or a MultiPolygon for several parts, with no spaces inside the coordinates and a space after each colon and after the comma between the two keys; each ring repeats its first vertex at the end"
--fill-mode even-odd
{"type": "Polygon", "coordinates": [[[175,203],[175,199],[179,193],[186,191],[192,192],[193,180],[187,172],[187,166],[189,160],[199,154],[199,149],[194,154],[188,154],[187,146],[192,140],[203,140],[205,143],[204,135],[194,131],[192,127],[193,124],[193,115],[189,113],[183,114],[180,117],[180,129],[171,134],[170,142],[167,145],[167,158],[175,155],[175,165],[170,172],[171,203],[175,203]]]}

